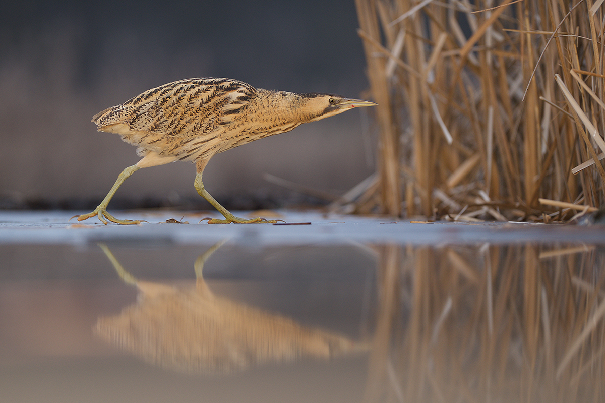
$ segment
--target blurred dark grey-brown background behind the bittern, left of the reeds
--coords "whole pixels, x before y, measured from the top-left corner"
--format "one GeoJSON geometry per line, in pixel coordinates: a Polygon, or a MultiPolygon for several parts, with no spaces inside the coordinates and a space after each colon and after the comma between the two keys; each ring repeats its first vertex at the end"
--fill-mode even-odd
{"type": "MultiPolygon", "coordinates": [[[[7,2],[0,25],[0,208],[94,208],[135,148],[97,133],[97,112],[189,77],[363,97],[353,1],[7,2]]],[[[373,171],[370,108],[302,125],[212,159],[204,184],[228,208],[318,200],[265,172],[342,192],[373,171]],[[367,109],[367,110],[366,110],[367,109]]],[[[209,208],[189,163],[142,169],[110,209],[209,208]],[[193,204],[192,204],[193,203],[193,204]]]]}

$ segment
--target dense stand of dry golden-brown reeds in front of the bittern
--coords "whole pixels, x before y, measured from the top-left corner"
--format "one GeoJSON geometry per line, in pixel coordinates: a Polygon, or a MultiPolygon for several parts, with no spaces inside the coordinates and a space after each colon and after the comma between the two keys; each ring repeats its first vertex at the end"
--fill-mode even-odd
{"type": "Polygon", "coordinates": [[[348,210],[549,223],[600,208],[602,3],[356,0],[379,134],[348,210]]]}

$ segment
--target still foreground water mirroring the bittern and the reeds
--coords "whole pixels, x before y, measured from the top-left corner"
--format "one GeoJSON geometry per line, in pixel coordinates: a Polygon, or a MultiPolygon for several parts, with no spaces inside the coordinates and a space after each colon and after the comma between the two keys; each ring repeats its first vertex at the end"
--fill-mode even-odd
{"type": "Polygon", "coordinates": [[[600,244],[0,246],[1,402],[603,402],[600,244]]]}

